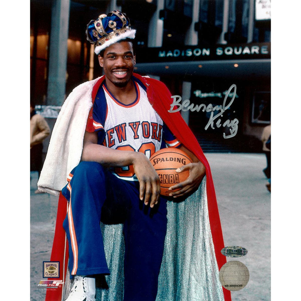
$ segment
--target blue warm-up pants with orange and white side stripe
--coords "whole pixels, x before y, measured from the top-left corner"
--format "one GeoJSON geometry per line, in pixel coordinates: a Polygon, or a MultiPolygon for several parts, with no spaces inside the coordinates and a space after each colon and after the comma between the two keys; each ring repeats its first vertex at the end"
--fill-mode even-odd
{"type": "Polygon", "coordinates": [[[62,189],[71,275],[110,274],[100,221],[123,223],[124,301],[154,301],[167,226],[166,198],[154,208],[139,199],[139,182],[117,178],[101,164],[81,162],[62,189]]]}

